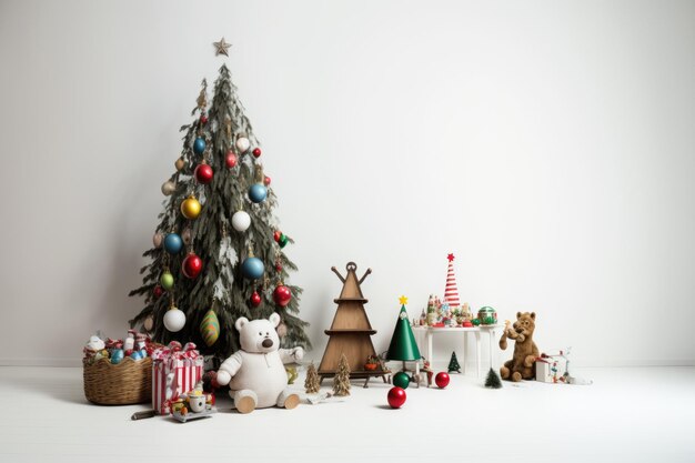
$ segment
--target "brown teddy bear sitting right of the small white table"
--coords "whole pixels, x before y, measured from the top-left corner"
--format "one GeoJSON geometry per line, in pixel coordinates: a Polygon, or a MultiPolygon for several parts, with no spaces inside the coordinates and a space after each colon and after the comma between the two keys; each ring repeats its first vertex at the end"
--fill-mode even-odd
{"type": "Polygon", "coordinates": [[[538,358],[538,348],[533,342],[533,331],[535,330],[535,312],[516,312],[516,321],[513,326],[506,322],[502,338],[500,339],[500,349],[506,350],[506,339],[516,341],[514,345],[514,356],[504,363],[500,369],[500,375],[503,380],[521,381],[535,380],[535,361],[538,358]]]}

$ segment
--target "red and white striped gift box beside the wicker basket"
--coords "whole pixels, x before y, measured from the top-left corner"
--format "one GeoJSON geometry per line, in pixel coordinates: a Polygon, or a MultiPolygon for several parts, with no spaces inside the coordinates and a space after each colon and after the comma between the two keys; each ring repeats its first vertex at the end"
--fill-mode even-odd
{"type": "Polygon", "coordinates": [[[203,378],[203,356],[189,342],[172,341],[152,352],[152,409],[159,414],[171,412],[171,402],[195,387],[203,378]]]}

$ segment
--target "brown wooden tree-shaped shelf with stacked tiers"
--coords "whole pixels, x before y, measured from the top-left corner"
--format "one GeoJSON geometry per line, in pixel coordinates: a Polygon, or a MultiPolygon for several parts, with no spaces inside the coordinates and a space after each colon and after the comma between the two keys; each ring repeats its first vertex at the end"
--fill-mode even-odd
{"type": "Polygon", "coordinates": [[[382,362],[377,363],[376,370],[365,370],[364,368],[367,358],[377,358],[371,338],[376,334],[376,330],[372,329],[366,316],[364,304],[369,301],[364,299],[360,289],[360,284],[372,273],[372,269],[367,269],[360,280],[355,273],[357,265],[354,262],[349,262],[345,269],[348,275],[343,278],[334,266],[331,268],[343,282],[343,290],[340,296],[333,300],[338,304],[338,310],[331,329],[325,330],[325,334],[330,338],[319,365],[319,375],[321,381],[324,378],[335,376],[340,356],[345,354],[348,362],[350,362],[351,379],[365,379],[364,387],[367,386],[372,376],[381,376],[386,383],[389,382],[386,376],[390,372],[385,370],[382,362]]]}

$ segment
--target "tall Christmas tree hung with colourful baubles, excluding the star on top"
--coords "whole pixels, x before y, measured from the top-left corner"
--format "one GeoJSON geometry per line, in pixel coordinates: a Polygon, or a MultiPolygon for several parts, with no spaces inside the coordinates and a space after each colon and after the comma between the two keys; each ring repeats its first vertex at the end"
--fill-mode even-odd
{"type": "Polygon", "coordinates": [[[261,149],[244,115],[226,66],[220,68],[212,104],[203,80],[193,121],[181,128],[177,171],[162,185],[168,197],[140,271],[142,323],[158,342],[194,342],[204,354],[226,358],[239,349],[240,316],[282,316],[283,346],[311,348],[299,319],[301,288],[285,285],[296,270],[283,249],[273,210],[276,198],[263,173],[261,149]]]}

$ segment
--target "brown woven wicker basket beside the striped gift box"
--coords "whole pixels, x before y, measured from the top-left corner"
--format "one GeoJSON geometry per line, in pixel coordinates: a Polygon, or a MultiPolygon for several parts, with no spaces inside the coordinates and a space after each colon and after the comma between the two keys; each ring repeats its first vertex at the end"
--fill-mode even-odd
{"type": "Polygon", "coordinates": [[[152,400],[152,359],[125,358],[117,365],[99,359],[88,365],[82,362],[84,396],[100,405],[128,405],[152,400]]]}

